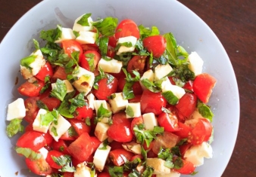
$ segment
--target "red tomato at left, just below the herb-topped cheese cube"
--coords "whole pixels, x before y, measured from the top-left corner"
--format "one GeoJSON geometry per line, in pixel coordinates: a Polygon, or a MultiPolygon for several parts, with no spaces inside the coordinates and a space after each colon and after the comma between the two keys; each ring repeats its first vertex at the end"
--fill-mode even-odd
{"type": "Polygon", "coordinates": [[[37,78],[30,78],[17,88],[18,92],[23,96],[39,96],[42,87],[45,86],[44,81],[37,78]]]}

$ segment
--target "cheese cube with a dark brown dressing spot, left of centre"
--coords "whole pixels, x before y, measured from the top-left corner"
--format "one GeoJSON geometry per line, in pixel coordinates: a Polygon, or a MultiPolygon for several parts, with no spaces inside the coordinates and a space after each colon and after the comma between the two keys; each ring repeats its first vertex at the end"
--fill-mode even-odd
{"type": "Polygon", "coordinates": [[[92,90],[94,84],[95,75],[93,72],[89,72],[82,67],[78,67],[73,77],[77,77],[78,80],[73,82],[73,86],[76,87],[80,93],[85,93],[85,96],[92,90]]]}

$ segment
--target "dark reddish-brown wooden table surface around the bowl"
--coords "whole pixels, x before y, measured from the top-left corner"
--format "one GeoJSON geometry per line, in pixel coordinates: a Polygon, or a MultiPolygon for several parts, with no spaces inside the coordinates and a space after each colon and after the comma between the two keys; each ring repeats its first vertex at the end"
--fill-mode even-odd
{"type": "MultiPolygon", "coordinates": [[[[0,0],[0,41],[11,26],[39,2],[0,0]]],[[[180,2],[201,17],[220,39],[233,64],[239,85],[239,135],[222,177],[256,177],[256,1],[180,2]]]]}

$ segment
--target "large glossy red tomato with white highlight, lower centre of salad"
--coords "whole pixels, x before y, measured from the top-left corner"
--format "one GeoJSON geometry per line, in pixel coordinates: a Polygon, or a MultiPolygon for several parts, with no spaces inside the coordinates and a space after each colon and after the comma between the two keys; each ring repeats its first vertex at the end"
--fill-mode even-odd
{"type": "Polygon", "coordinates": [[[117,142],[130,142],[133,139],[131,123],[124,112],[114,114],[113,124],[108,129],[108,137],[117,142]],[[118,132],[118,133],[117,133],[118,132]]]}

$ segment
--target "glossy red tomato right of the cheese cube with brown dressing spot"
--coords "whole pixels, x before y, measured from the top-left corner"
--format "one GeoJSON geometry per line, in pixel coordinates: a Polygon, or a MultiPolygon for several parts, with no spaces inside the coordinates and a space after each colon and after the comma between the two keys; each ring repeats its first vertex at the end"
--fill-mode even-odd
{"type": "Polygon", "coordinates": [[[97,99],[108,100],[108,96],[117,91],[117,78],[114,78],[111,83],[108,84],[108,78],[102,78],[98,81],[98,90],[92,90],[97,99]]]}

